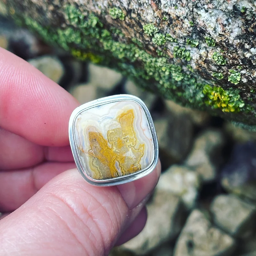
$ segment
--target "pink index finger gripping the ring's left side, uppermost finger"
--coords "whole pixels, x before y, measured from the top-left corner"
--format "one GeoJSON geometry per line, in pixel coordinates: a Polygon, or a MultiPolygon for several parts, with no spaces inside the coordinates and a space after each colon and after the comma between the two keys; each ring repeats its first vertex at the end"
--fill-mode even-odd
{"type": "Polygon", "coordinates": [[[25,60],[0,47],[0,126],[36,144],[68,144],[73,96],[25,60]]]}

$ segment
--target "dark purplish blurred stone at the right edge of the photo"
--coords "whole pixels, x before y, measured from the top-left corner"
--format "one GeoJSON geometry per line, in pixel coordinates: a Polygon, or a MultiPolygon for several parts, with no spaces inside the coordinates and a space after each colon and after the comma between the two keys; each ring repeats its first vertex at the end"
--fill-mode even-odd
{"type": "Polygon", "coordinates": [[[221,170],[221,184],[227,191],[256,201],[256,143],[234,146],[221,170]]]}

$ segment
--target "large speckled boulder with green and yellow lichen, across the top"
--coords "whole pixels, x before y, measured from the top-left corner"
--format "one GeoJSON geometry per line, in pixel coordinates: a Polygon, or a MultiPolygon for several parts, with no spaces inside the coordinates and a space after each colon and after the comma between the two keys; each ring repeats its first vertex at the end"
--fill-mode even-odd
{"type": "Polygon", "coordinates": [[[2,2],[18,24],[81,60],[185,106],[256,125],[253,0],[2,2]]]}

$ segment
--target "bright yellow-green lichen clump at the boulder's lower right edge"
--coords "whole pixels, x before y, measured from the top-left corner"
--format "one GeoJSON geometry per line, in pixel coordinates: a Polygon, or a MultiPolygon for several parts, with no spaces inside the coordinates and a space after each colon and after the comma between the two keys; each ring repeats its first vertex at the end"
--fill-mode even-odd
{"type": "Polygon", "coordinates": [[[212,108],[220,108],[223,112],[240,112],[244,101],[238,91],[225,91],[221,87],[205,85],[203,93],[206,96],[205,104],[212,108]]]}

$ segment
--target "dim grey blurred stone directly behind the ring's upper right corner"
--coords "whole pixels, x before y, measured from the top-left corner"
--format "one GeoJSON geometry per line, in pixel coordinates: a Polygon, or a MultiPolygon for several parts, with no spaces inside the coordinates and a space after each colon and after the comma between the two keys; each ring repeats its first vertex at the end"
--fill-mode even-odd
{"type": "Polygon", "coordinates": [[[142,90],[131,80],[126,81],[126,83],[124,84],[124,91],[127,94],[137,96],[138,98],[143,100],[149,110],[152,108],[152,105],[155,103],[157,99],[156,95],[145,90],[142,90]]]}

